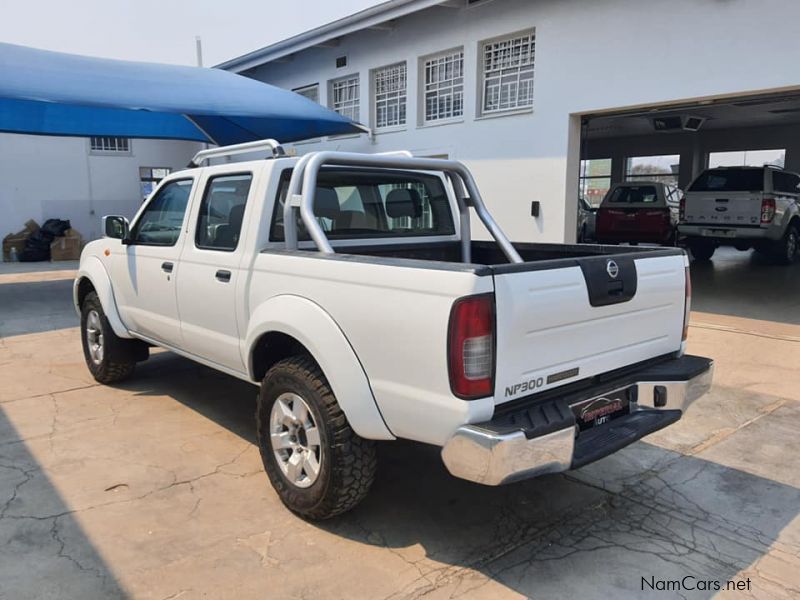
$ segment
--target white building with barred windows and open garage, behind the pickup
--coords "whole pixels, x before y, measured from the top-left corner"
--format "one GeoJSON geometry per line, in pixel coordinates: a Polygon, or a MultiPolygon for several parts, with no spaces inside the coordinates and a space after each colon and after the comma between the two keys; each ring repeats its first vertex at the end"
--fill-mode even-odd
{"type": "Polygon", "coordinates": [[[512,239],[570,241],[581,185],[800,170],[799,20],[793,0],[391,0],[220,67],[374,131],[298,152],[463,160],[512,239]]]}

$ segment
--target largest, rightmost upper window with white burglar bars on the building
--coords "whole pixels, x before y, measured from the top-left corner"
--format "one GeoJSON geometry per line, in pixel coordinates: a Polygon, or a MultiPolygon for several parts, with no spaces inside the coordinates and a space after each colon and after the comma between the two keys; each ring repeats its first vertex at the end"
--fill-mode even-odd
{"type": "Polygon", "coordinates": [[[483,114],[533,106],[535,46],[533,31],[483,44],[483,114]]]}

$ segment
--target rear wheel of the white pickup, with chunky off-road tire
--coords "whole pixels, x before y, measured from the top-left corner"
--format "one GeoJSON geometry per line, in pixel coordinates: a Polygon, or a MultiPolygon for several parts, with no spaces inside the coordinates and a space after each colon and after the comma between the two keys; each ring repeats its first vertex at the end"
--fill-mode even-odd
{"type": "Polygon", "coordinates": [[[375,478],[375,444],[347,422],[319,366],[308,356],[276,363],[261,384],[258,445],[286,507],[311,520],[354,508],[375,478]]]}

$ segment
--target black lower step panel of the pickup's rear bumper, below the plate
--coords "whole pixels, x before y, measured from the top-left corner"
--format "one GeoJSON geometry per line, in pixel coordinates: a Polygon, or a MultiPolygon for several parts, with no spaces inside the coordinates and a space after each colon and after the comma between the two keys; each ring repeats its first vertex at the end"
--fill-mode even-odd
{"type": "Polygon", "coordinates": [[[640,409],[604,427],[582,431],[575,440],[571,469],[613,454],[646,435],[672,425],[681,418],[680,410],[640,409]]]}

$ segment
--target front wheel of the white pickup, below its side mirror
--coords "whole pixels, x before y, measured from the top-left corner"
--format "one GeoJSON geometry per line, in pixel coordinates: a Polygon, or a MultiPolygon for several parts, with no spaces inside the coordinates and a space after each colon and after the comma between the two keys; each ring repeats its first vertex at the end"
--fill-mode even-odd
{"type": "Polygon", "coordinates": [[[118,383],[133,374],[136,360],[121,355],[127,353],[126,345],[137,342],[114,333],[96,292],[89,292],[81,304],[81,342],[86,366],[95,381],[118,383]]]}

